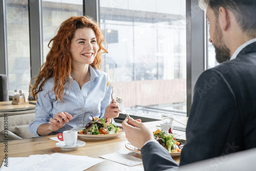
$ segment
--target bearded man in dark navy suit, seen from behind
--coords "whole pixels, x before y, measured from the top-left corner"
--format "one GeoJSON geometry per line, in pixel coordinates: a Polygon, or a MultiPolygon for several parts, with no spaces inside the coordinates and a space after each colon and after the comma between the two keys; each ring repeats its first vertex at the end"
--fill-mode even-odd
{"type": "MultiPolygon", "coordinates": [[[[199,4],[221,64],[197,80],[180,165],[256,147],[256,1],[199,4]]],[[[143,123],[126,118],[122,126],[128,141],[141,149],[145,170],[178,168],[143,123]]]]}

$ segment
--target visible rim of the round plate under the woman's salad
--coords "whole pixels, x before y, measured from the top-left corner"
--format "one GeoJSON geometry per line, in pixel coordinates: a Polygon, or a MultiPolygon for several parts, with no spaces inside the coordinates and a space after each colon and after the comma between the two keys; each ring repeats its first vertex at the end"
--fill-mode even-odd
{"type": "MultiPolygon", "coordinates": [[[[122,129],[121,126],[120,129],[122,129]]],[[[74,127],[71,130],[75,130],[75,131],[79,131],[81,129],[84,129],[84,126],[78,126],[78,127],[74,127]]],[[[117,137],[119,135],[122,135],[124,133],[123,129],[122,132],[120,133],[116,133],[116,134],[99,134],[99,135],[88,135],[88,134],[77,134],[78,137],[83,138],[83,139],[91,139],[91,140],[98,140],[98,139],[110,139],[110,138],[114,138],[117,137]]]]}

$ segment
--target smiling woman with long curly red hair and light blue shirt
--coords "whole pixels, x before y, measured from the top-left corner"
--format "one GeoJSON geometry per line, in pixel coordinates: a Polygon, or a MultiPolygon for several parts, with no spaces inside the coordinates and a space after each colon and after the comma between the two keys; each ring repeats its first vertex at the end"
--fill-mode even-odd
{"type": "Polygon", "coordinates": [[[46,62],[34,78],[32,94],[38,99],[36,117],[29,126],[33,134],[70,130],[86,124],[91,116],[108,118],[110,123],[118,117],[118,105],[116,101],[110,104],[111,89],[106,86],[109,75],[100,69],[101,53],[108,52],[103,41],[97,23],[89,17],[73,16],[60,25],[49,42],[52,47],[46,62]],[[73,119],[73,114],[83,111],[88,112],[73,119]]]}

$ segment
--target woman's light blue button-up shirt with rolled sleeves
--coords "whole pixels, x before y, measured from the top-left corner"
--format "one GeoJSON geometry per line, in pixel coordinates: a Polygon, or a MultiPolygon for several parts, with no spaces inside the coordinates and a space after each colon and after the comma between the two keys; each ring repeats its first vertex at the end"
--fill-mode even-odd
{"type": "Polygon", "coordinates": [[[105,108],[111,101],[111,88],[106,87],[110,78],[109,75],[103,71],[92,68],[91,66],[89,66],[89,69],[91,80],[84,83],[81,89],[79,84],[71,78],[71,86],[69,90],[70,80],[67,79],[65,84],[66,93],[62,97],[64,101],[63,103],[61,103],[60,100],[59,102],[54,101],[53,78],[49,78],[45,82],[44,86],[42,86],[42,91],[37,94],[38,99],[35,106],[35,118],[29,125],[30,132],[39,136],[37,134],[38,126],[43,123],[49,123],[50,118],[53,118],[54,115],[59,112],[67,112],[70,115],[77,115],[88,111],[84,114],[74,116],[71,121],[66,123],[61,129],[53,132],[53,134],[70,130],[73,127],[86,125],[92,120],[92,116],[99,118],[104,116],[105,108]]]}

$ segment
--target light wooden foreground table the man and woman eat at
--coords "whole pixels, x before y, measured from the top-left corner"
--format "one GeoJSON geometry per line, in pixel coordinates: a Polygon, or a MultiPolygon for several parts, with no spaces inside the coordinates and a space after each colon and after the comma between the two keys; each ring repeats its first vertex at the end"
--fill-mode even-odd
{"type": "MultiPolygon", "coordinates": [[[[146,122],[145,124],[150,128],[151,131],[156,130],[156,125],[160,124],[161,121],[146,122]]],[[[186,123],[186,119],[184,120],[186,123]]],[[[182,132],[185,134],[185,132],[182,132]]],[[[56,135],[55,135],[56,136],[56,135]]],[[[28,157],[30,155],[38,154],[53,154],[53,153],[63,153],[78,156],[89,156],[93,158],[99,158],[99,156],[111,154],[111,153],[122,153],[141,158],[140,154],[134,153],[125,147],[127,139],[125,134],[118,137],[106,140],[86,140],[78,138],[86,142],[86,145],[75,149],[74,151],[64,151],[59,147],[55,146],[56,141],[49,139],[49,137],[55,136],[45,136],[30,139],[22,139],[9,141],[7,146],[5,143],[0,144],[0,163],[3,162],[5,157],[4,150],[8,148],[8,157],[28,157]]],[[[177,163],[180,161],[180,157],[173,158],[177,163]]],[[[119,164],[110,160],[104,160],[87,170],[143,170],[143,165],[136,165],[133,167],[119,164]]]]}

